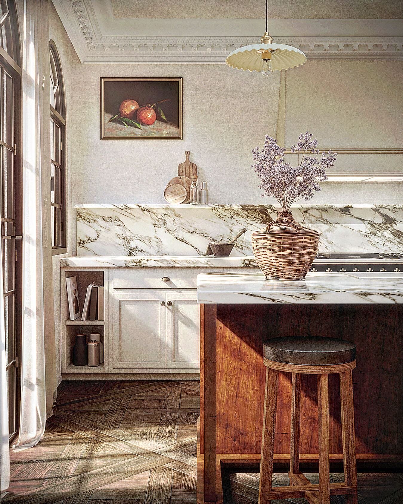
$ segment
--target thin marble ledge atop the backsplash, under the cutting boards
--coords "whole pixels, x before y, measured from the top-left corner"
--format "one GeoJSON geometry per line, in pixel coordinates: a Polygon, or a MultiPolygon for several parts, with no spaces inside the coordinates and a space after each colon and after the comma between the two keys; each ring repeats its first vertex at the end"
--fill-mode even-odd
{"type": "MultiPolygon", "coordinates": [[[[245,205],[227,205],[227,204],[217,204],[217,205],[168,205],[168,204],[142,204],[142,203],[130,203],[130,204],[112,204],[112,203],[88,203],[88,204],[76,204],[74,208],[191,208],[193,210],[197,210],[197,208],[281,208],[280,205],[253,205],[253,204],[245,204],[245,205]]],[[[309,204],[309,203],[301,203],[291,205],[291,208],[403,208],[403,205],[387,205],[387,204],[357,204],[357,205],[348,205],[345,203],[340,204],[309,204]]]]}

